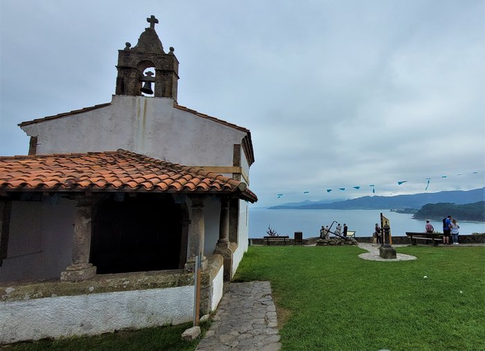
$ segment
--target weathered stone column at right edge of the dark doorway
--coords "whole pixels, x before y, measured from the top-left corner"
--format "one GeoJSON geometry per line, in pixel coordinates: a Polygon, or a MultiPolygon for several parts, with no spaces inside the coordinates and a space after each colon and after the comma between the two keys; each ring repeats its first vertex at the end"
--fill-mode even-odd
{"type": "Polygon", "coordinates": [[[187,271],[193,271],[195,256],[197,255],[202,255],[202,269],[205,269],[207,266],[207,259],[204,256],[204,196],[191,196],[191,200],[192,216],[191,224],[188,228],[188,252],[185,265],[187,271]]]}

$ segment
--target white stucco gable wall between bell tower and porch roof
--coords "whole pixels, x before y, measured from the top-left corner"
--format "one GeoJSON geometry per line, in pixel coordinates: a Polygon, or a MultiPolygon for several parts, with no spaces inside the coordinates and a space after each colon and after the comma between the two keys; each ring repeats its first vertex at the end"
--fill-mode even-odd
{"type": "Polygon", "coordinates": [[[187,166],[232,166],[233,144],[245,137],[241,130],[174,108],[172,99],[119,95],[104,108],[22,129],[38,135],[37,153],[123,148],[187,166]]]}

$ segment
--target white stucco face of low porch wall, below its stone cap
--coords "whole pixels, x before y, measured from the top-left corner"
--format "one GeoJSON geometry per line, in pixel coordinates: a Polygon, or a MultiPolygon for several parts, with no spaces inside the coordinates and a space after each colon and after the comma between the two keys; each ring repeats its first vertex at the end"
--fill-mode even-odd
{"type": "Polygon", "coordinates": [[[0,344],[185,323],[194,286],[0,302],[0,344]]]}

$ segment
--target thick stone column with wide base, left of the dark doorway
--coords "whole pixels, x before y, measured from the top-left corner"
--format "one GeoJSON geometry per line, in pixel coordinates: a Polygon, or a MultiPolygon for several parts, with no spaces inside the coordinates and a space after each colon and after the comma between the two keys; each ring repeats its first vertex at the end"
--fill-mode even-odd
{"type": "Polygon", "coordinates": [[[73,260],[71,266],[61,273],[61,280],[78,282],[96,275],[96,266],[89,263],[91,250],[91,222],[93,198],[78,198],[76,221],[74,223],[73,260]]]}

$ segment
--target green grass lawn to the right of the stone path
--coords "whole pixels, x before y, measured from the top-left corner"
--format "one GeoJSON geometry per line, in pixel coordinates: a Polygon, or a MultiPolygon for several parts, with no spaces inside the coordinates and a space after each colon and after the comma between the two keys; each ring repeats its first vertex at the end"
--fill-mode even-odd
{"type": "Polygon", "coordinates": [[[235,280],[270,280],[283,350],[485,350],[485,248],[251,246],[235,280]],[[427,278],[425,278],[425,276],[427,278]]]}

